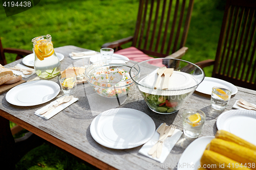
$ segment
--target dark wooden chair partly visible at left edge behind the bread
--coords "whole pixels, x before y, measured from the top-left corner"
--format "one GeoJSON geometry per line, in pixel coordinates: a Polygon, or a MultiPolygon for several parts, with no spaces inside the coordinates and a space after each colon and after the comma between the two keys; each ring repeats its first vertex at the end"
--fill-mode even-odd
{"type": "Polygon", "coordinates": [[[6,65],[6,58],[5,58],[5,53],[12,53],[12,54],[17,54],[16,60],[23,58],[24,56],[27,56],[29,54],[32,54],[32,51],[29,50],[21,50],[21,49],[16,49],[16,48],[3,48],[2,42],[1,42],[1,37],[0,37],[0,64],[6,65]]]}

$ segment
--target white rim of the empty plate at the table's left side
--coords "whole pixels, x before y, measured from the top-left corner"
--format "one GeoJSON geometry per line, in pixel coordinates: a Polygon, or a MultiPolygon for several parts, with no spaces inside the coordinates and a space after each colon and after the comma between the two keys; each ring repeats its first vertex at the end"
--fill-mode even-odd
{"type": "MultiPolygon", "coordinates": [[[[40,89],[41,90],[41,89],[40,89]]],[[[40,105],[46,102],[51,101],[52,99],[54,99],[58,93],[60,91],[60,87],[57,83],[49,81],[49,80],[37,80],[37,81],[31,81],[31,82],[27,82],[27,83],[23,83],[20,85],[17,85],[15,87],[13,87],[11,90],[9,90],[5,96],[6,101],[12,105],[16,105],[16,106],[35,106],[35,105],[40,105]],[[35,102],[35,103],[18,103],[12,100],[13,98],[13,93],[15,93],[16,91],[22,91],[23,87],[26,86],[36,86],[36,85],[48,85],[48,86],[52,86],[58,90],[55,90],[55,92],[52,94],[51,98],[49,98],[48,100],[42,101],[42,102],[35,102]]]]}

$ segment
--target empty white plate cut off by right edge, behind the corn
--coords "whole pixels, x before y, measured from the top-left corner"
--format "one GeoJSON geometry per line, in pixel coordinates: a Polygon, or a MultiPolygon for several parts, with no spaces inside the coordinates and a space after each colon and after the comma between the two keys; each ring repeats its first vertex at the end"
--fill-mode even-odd
{"type": "Polygon", "coordinates": [[[217,119],[218,130],[225,130],[256,145],[256,113],[252,110],[229,110],[217,119]]]}

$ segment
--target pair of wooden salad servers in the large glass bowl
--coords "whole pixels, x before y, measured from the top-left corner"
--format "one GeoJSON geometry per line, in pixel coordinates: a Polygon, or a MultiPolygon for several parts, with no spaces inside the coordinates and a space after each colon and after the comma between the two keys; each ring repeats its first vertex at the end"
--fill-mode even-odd
{"type": "Polygon", "coordinates": [[[158,68],[158,70],[157,70],[158,77],[157,77],[154,89],[157,89],[157,86],[159,84],[159,80],[160,80],[162,75],[164,75],[162,90],[168,89],[169,78],[170,78],[170,76],[172,76],[173,72],[174,72],[174,68],[166,68],[165,66],[158,68]]]}

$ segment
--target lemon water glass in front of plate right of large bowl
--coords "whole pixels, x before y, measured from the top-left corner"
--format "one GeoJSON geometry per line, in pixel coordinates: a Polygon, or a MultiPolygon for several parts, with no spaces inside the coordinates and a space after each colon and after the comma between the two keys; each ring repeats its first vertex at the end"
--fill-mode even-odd
{"type": "Polygon", "coordinates": [[[230,100],[232,91],[225,87],[212,87],[211,107],[215,110],[224,110],[230,100]]]}

